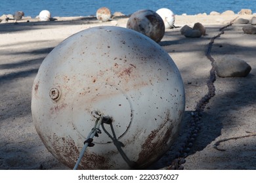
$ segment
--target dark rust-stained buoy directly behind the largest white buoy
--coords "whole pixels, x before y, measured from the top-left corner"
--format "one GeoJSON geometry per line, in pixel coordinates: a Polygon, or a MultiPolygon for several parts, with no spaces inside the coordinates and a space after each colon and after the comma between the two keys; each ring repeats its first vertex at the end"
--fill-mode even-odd
{"type": "Polygon", "coordinates": [[[165,34],[161,16],[152,10],[134,12],[127,22],[127,28],[138,31],[156,42],[160,42],[165,34]]]}

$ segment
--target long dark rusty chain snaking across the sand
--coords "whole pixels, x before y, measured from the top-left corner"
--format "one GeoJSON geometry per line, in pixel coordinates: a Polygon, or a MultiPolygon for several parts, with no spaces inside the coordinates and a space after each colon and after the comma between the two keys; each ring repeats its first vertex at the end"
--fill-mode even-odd
{"type": "MultiPolygon", "coordinates": [[[[236,20],[236,18],[234,20],[236,20]]],[[[192,112],[192,118],[188,122],[188,128],[189,128],[188,135],[186,136],[186,139],[182,143],[181,148],[179,148],[179,153],[175,156],[175,159],[173,159],[171,165],[169,165],[169,167],[167,167],[167,169],[169,169],[169,170],[184,169],[182,164],[186,163],[185,158],[188,156],[188,153],[190,152],[190,148],[192,148],[193,143],[196,140],[196,137],[198,136],[198,133],[201,129],[200,120],[202,118],[203,110],[204,110],[205,106],[207,105],[207,103],[209,103],[210,99],[215,96],[214,82],[216,80],[216,75],[215,75],[215,68],[213,66],[213,62],[215,60],[211,57],[211,48],[213,46],[215,39],[221,37],[221,35],[224,34],[223,29],[232,25],[232,22],[234,22],[234,20],[232,20],[230,22],[230,24],[225,25],[224,27],[219,29],[219,31],[221,31],[221,33],[219,33],[215,37],[212,37],[211,41],[208,44],[207,52],[205,55],[209,59],[209,61],[211,61],[211,70],[209,72],[209,79],[207,80],[208,92],[206,95],[204,95],[202,97],[202,99],[200,99],[200,101],[196,105],[195,111],[192,112]]]]}

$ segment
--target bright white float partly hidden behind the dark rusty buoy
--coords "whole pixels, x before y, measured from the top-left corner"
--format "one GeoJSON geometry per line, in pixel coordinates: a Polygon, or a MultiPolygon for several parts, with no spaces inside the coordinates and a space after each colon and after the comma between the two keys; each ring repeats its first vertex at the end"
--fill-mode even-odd
{"type": "Polygon", "coordinates": [[[160,8],[156,11],[157,14],[161,16],[165,24],[165,29],[170,29],[174,27],[175,23],[175,14],[168,8],[160,8]]]}

